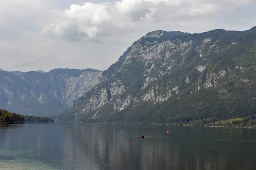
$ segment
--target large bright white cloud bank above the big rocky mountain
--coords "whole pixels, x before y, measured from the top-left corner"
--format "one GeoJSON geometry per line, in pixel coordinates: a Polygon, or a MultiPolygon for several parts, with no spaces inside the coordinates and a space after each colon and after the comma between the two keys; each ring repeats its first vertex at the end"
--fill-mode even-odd
{"type": "Polygon", "coordinates": [[[179,22],[211,17],[251,0],[118,0],[108,3],[73,4],[53,17],[61,21],[43,28],[43,33],[68,40],[101,40],[118,30],[133,30],[140,24],[179,22]]]}

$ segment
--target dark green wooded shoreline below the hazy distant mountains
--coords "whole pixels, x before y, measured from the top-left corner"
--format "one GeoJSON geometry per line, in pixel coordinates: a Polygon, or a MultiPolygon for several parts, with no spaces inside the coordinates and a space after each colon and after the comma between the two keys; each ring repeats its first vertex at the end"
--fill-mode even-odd
{"type": "Polygon", "coordinates": [[[23,116],[17,113],[11,113],[6,110],[0,110],[0,123],[25,123],[25,122],[54,122],[48,117],[23,116]]]}

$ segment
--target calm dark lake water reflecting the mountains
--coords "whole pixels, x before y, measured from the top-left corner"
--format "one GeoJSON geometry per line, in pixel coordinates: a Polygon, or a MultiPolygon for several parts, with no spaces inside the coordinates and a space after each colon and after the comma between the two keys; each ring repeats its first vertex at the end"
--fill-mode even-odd
{"type": "Polygon", "coordinates": [[[255,132],[73,123],[0,125],[0,170],[255,170],[255,132]]]}

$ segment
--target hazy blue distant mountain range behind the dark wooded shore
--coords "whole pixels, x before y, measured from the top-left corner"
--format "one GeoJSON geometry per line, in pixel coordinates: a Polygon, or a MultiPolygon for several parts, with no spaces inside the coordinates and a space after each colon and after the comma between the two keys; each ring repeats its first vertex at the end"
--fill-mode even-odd
{"type": "Polygon", "coordinates": [[[24,115],[57,115],[96,85],[101,74],[93,69],[0,71],[0,108],[24,115]]]}

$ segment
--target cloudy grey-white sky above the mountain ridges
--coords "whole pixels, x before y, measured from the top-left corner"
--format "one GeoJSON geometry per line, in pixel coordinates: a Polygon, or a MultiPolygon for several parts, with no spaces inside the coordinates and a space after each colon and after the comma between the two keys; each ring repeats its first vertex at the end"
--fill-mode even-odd
{"type": "Polygon", "coordinates": [[[1,0],[0,68],[106,70],[155,30],[256,26],[256,0],[1,0]]]}

